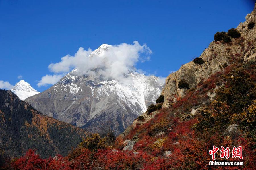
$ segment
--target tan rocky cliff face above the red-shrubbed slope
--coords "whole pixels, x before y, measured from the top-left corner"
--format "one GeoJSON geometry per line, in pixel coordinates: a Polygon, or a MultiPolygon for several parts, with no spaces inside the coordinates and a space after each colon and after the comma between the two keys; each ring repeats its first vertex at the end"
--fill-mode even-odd
{"type": "Polygon", "coordinates": [[[168,107],[169,103],[175,102],[178,97],[185,95],[186,89],[178,88],[179,81],[185,80],[190,88],[194,88],[200,81],[229,65],[228,59],[232,57],[243,55],[244,62],[256,58],[256,49],[254,49],[256,28],[248,29],[247,27],[249,22],[256,22],[255,8],[251,14],[245,17],[245,22],[240,23],[236,28],[241,33],[240,38],[231,38],[231,43],[211,42],[200,56],[205,61],[204,64],[198,65],[191,61],[182,65],[178,71],[166,78],[166,85],[162,90],[165,98],[163,107],[168,107]]]}

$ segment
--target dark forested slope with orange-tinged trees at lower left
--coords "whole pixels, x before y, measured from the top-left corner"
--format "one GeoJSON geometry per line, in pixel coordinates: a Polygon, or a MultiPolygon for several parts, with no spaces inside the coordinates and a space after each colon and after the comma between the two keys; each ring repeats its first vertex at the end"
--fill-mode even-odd
{"type": "Polygon", "coordinates": [[[1,159],[22,156],[35,149],[41,157],[67,155],[87,132],[42,115],[14,93],[0,90],[1,159]]]}

